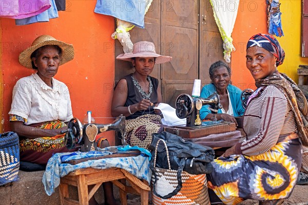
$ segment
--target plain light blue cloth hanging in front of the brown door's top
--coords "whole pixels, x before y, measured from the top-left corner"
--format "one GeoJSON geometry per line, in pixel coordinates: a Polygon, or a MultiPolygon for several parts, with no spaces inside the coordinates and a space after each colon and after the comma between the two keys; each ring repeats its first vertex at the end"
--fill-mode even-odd
{"type": "Polygon", "coordinates": [[[145,6],[145,0],[97,0],[94,12],[111,15],[140,28],[144,28],[145,6]]]}

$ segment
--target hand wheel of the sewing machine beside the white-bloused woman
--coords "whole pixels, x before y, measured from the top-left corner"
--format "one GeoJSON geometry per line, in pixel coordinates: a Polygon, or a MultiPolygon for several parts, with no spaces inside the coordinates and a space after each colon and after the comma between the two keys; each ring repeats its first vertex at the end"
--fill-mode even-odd
{"type": "Polygon", "coordinates": [[[72,118],[67,127],[65,145],[68,149],[72,149],[75,144],[79,144],[82,140],[83,126],[77,118],[72,118]]]}

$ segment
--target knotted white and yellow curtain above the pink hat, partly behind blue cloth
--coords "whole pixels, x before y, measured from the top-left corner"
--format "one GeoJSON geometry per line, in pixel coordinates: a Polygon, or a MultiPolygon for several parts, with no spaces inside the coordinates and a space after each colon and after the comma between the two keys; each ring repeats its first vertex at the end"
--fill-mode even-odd
{"type": "MultiPolygon", "coordinates": [[[[144,0],[144,1],[145,1],[144,14],[146,14],[153,0],[144,0]]],[[[133,48],[133,43],[130,40],[130,34],[128,31],[130,31],[134,27],[134,25],[129,22],[120,20],[119,18],[115,18],[115,20],[117,21],[118,27],[117,29],[115,29],[115,32],[111,34],[111,38],[118,39],[120,41],[121,45],[123,46],[124,53],[131,53],[133,48]]]]}

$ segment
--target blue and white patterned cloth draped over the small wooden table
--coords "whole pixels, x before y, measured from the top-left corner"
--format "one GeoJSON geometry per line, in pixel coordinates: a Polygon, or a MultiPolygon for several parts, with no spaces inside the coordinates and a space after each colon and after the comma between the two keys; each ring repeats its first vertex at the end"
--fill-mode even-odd
{"type": "MultiPolygon", "coordinates": [[[[115,157],[97,160],[88,160],[75,165],[63,163],[70,160],[83,159],[89,157],[99,157],[111,155],[112,152],[119,152],[120,146],[110,146],[100,149],[101,152],[73,152],[73,153],[56,153],[48,161],[46,171],[43,175],[42,182],[45,187],[45,192],[50,196],[54,189],[60,185],[60,178],[66,176],[70,172],[78,169],[92,167],[95,169],[108,169],[111,167],[118,167],[126,170],[130,174],[139,179],[145,179],[150,182],[152,172],[149,168],[149,158],[147,155],[139,155],[136,157],[115,157]]],[[[145,153],[145,152],[143,152],[145,153]]]]}

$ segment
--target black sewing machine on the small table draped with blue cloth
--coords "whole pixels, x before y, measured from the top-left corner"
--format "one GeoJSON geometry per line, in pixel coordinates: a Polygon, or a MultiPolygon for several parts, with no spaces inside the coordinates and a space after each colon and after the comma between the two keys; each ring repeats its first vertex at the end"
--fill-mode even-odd
{"type": "Polygon", "coordinates": [[[65,134],[65,145],[68,149],[80,147],[82,152],[97,151],[95,137],[106,131],[120,133],[122,145],[125,145],[125,117],[119,116],[111,124],[88,123],[82,125],[77,118],[72,118],[68,123],[68,129],[62,131],[65,134]]]}

